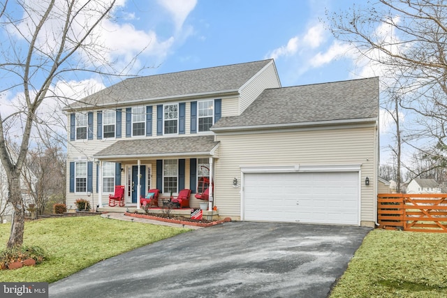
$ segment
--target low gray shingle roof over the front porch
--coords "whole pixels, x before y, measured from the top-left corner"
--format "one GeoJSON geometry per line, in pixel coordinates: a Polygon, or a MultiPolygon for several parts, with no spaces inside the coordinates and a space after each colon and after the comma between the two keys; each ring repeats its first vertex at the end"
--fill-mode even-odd
{"type": "Polygon", "coordinates": [[[214,136],[159,137],[152,139],[119,140],[94,154],[95,158],[135,158],[138,156],[179,156],[210,154],[219,142],[214,136]]]}

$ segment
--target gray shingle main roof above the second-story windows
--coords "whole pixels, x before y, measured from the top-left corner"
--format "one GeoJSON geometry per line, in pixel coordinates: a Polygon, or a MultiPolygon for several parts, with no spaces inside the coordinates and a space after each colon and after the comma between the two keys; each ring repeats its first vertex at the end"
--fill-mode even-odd
{"type": "Polygon", "coordinates": [[[268,59],[179,73],[135,77],[91,94],[81,100],[82,105],[73,103],[66,110],[85,107],[85,105],[117,104],[154,98],[235,91],[271,62],[272,59],[268,59]]]}

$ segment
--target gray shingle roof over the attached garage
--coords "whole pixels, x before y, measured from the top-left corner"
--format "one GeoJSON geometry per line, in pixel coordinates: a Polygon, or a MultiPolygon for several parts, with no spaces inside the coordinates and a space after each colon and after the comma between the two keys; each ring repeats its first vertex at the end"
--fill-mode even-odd
{"type": "Polygon", "coordinates": [[[266,89],[240,116],[222,117],[212,130],[365,119],[378,114],[379,77],[372,77],[266,89]]]}

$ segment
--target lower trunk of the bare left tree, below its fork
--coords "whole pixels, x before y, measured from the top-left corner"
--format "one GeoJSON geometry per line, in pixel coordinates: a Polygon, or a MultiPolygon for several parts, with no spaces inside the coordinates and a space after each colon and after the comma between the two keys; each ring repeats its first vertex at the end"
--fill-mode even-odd
{"type": "Polygon", "coordinates": [[[13,172],[13,176],[18,177],[8,179],[9,199],[13,204],[14,213],[8,244],[6,244],[7,248],[22,246],[23,244],[25,212],[22,202],[22,191],[20,188],[20,172],[13,172]]]}

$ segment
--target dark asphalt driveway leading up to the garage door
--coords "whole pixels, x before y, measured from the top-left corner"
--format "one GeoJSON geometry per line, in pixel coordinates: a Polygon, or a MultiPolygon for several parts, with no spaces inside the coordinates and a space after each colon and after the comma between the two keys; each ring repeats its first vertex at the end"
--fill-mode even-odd
{"type": "Polygon", "coordinates": [[[327,297],[369,228],[230,222],[50,284],[50,297],[327,297]]]}

